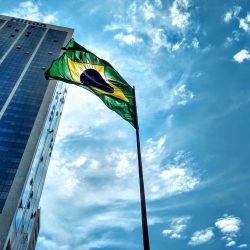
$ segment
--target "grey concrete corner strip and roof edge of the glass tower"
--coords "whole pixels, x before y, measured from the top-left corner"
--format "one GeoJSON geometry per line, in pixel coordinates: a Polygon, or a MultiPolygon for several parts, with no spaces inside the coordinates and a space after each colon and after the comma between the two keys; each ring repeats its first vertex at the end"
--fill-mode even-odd
{"type": "MultiPolygon", "coordinates": [[[[66,46],[67,42],[73,35],[74,30],[72,28],[60,27],[56,25],[44,24],[40,22],[29,21],[21,18],[9,17],[0,15],[0,19],[4,19],[6,21],[17,21],[24,22],[30,25],[45,25],[44,27],[47,29],[56,29],[59,31],[67,32],[66,39],[64,41],[64,46],[66,46]]],[[[61,52],[62,54],[62,52],[61,52]]],[[[55,95],[57,87],[57,81],[50,80],[48,84],[48,88],[44,95],[42,104],[40,106],[38,115],[34,122],[34,126],[30,133],[28,142],[26,144],[22,159],[18,166],[18,170],[16,172],[15,178],[8,194],[8,198],[6,200],[5,206],[0,214],[0,219],[3,222],[3,225],[0,225],[0,249],[9,249],[9,241],[11,242],[12,235],[15,233],[15,218],[17,215],[18,207],[21,202],[25,186],[28,181],[28,176],[30,172],[30,167],[35,156],[37,145],[40,140],[40,136],[42,130],[45,126],[46,120],[49,119],[49,109],[51,102],[53,100],[53,96],[55,95]]],[[[56,131],[55,131],[56,133],[56,131]]]]}

